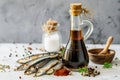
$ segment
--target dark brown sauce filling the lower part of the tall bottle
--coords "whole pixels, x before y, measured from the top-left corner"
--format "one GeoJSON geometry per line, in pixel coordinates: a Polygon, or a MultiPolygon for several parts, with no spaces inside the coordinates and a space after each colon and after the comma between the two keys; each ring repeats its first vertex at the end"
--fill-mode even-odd
{"type": "Polygon", "coordinates": [[[81,30],[70,30],[70,39],[63,54],[62,62],[64,66],[72,69],[88,65],[89,57],[81,30]]]}

